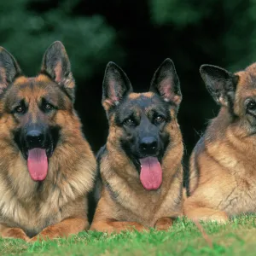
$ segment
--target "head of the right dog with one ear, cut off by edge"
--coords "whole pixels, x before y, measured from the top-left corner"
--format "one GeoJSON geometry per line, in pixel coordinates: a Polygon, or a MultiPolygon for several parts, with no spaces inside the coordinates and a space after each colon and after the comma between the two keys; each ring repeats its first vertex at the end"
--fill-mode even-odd
{"type": "Polygon", "coordinates": [[[256,132],[256,64],[238,73],[203,65],[200,72],[213,99],[229,109],[246,135],[253,135],[256,132]]]}

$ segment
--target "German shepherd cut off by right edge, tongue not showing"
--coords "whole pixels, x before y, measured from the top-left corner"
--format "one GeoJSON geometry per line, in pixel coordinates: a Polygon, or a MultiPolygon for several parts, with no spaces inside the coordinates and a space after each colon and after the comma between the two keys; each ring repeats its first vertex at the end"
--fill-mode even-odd
{"type": "Polygon", "coordinates": [[[221,108],[191,156],[184,214],[224,223],[256,212],[256,63],[238,73],[212,65],[200,72],[221,108]]]}

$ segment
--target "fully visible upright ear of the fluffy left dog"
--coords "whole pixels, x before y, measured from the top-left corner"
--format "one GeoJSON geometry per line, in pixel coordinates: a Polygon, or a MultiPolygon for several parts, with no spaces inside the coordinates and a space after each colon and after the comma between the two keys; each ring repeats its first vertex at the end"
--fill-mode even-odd
{"type": "Polygon", "coordinates": [[[74,79],[71,65],[64,45],[56,41],[45,51],[41,73],[46,73],[56,84],[63,86],[69,96],[74,98],[74,79]]]}

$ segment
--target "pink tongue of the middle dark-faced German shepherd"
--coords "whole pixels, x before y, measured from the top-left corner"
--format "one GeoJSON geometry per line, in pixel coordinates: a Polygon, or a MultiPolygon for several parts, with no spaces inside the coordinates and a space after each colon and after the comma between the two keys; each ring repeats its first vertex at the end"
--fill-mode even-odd
{"type": "Polygon", "coordinates": [[[156,157],[145,157],[141,162],[141,183],[148,190],[159,189],[162,183],[162,169],[156,157]]]}

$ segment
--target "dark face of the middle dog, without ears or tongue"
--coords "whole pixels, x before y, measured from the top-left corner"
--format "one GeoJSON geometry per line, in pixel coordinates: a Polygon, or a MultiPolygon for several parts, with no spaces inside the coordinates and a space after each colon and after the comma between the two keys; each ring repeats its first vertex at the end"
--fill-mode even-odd
{"type": "Polygon", "coordinates": [[[135,159],[148,156],[162,158],[170,141],[165,124],[171,114],[166,102],[153,93],[131,94],[116,114],[115,123],[122,127],[122,148],[135,159]]]}

